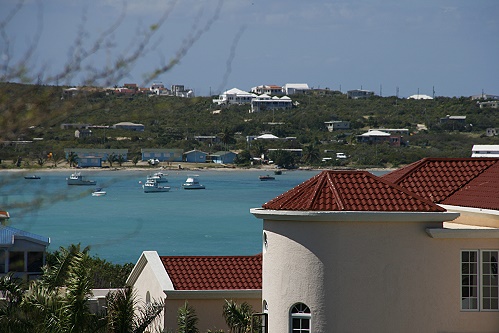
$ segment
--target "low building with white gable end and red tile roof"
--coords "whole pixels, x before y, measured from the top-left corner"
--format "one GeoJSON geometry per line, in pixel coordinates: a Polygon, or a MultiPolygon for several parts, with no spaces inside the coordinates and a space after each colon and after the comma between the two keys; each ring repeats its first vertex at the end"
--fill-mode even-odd
{"type": "Polygon", "coordinates": [[[157,328],[177,327],[177,311],[188,302],[199,319],[200,332],[228,330],[225,300],[248,303],[257,311],[262,298],[262,255],[159,256],[144,251],[127,279],[146,303],[165,300],[157,328]]]}

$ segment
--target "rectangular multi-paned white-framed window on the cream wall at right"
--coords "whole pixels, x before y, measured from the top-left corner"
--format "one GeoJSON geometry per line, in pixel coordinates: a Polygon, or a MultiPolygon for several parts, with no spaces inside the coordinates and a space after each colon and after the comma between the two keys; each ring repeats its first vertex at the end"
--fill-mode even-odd
{"type": "Polygon", "coordinates": [[[461,251],[461,310],[499,311],[499,251],[461,251]]]}

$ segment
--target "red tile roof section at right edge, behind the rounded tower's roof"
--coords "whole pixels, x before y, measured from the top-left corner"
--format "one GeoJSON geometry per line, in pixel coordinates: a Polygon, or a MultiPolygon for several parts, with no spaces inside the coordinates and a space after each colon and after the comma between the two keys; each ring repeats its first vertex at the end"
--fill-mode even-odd
{"type": "Polygon", "coordinates": [[[499,158],[425,158],[382,178],[435,203],[499,210],[499,158]]]}

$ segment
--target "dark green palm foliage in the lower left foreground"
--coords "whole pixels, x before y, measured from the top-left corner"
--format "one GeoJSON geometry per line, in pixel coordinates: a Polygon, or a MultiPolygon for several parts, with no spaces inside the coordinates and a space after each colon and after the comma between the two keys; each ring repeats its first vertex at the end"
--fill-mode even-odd
{"type": "Polygon", "coordinates": [[[0,278],[2,332],[83,333],[145,332],[163,310],[162,301],[139,304],[129,287],[107,296],[107,311],[93,312],[93,277],[88,248],[61,247],[39,280],[16,279],[10,273],[0,278]]]}

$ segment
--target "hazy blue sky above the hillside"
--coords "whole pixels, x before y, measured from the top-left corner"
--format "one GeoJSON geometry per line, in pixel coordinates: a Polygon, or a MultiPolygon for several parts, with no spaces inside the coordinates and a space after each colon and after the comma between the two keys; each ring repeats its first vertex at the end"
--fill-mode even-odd
{"type": "MultiPolygon", "coordinates": [[[[19,1],[1,2],[5,22],[19,1]]],[[[151,84],[145,75],[187,40],[193,43],[180,62],[154,81],[204,96],[286,83],[383,96],[398,88],[399,97],[433,89],[436,96],[499,95],[498,12],[497,0],[25,0],[0,39],[0,61],[20,61],[38,40],[28,68],[48,77],[64,68],[78,37],[88,49],[121,18],[80,75],[58,82],[78,85],[89,67],[130,54],[141,32],[167,14],[145,56],[116,85],[151,84]]]]}

